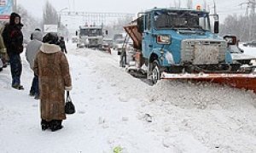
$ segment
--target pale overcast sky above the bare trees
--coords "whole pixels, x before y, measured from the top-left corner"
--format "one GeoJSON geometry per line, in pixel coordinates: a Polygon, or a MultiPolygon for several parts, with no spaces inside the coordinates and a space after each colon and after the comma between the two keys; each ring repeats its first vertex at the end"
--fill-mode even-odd
{"type": "MultiPolygon", "coordinates": [[[[110,13],[132,13],[137,14],[142,10],[154,7],[173,6],[175,0],[49,0],[49,2],[60,11],[62,8],[69,8],[71,11],[85,12],[110,12],[110,13]]],[[[43,7],[46,0],[17,0],[18,4],[24,6],[28,12],[38,18],[42,18],[43,7]]],[[[186,7],[187,0],[181,0],[182,6],[186,7]]],[[[203,5],[203,0],[193,0],[194,6],[203,5]]],[[[226,14],[245,14],[246,6],[241,8],[240,3],[247,0],[215,0],[217,10],[221,19],[226,14]]],[[[207,0],[207,5],[213,11],[213,0],[207,0]]]]}

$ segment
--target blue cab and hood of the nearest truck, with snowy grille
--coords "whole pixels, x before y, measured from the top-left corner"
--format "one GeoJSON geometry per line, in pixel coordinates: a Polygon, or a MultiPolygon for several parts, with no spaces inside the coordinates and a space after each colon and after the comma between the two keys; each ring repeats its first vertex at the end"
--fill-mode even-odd
{"type": "Polygon", "coordinates": [[[137,48],[143,56],[141,63],[148,65],[148,77],[160,79],[160,71],[192,73],[239,69],[240,65],[232,63],[227,42],[218,37],[218,20],[212,32],[207,11],[153,8],[140,15],[137,31],[142,40],[137,48]]]}

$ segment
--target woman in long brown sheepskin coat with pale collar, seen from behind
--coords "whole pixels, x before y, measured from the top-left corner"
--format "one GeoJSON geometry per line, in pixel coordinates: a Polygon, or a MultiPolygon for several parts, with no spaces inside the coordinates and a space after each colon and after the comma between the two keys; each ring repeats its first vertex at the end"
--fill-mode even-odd
{"type": "Polygon", "coordinates": [[[58,36],[48,33],[34,62],[34,72],[39,77],[42,130],[56,131],[66,119],[65,90],[72,89],[67,57],[56,45],[58,36]]]}

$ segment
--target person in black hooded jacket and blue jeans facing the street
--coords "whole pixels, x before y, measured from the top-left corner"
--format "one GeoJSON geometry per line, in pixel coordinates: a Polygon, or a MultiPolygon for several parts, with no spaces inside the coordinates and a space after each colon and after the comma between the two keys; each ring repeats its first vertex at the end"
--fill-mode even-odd
{"type": "Polygon", "coordinates": [[[9,24],[3,30],[3,42],[9,56],[9,63],[12,74],[12,87],[22,90],[20,85],[20,75],[22,65],[20,54],[23,52],[23,34],[21,31],[20,15],[16,13],[10,14],[9,24]]]}

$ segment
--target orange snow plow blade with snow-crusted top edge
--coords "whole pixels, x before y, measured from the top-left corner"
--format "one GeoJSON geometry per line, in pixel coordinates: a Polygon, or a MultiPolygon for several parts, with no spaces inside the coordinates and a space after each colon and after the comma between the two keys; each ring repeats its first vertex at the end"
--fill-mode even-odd
{"type": "Polygon", "coordinates": [[[256,94],[256,73],[199,73],[199,74],[170,74],[163,72],[161,79],[187,79],[196,82],[215,82],[233,88],[252,90],[256,94]]]}

